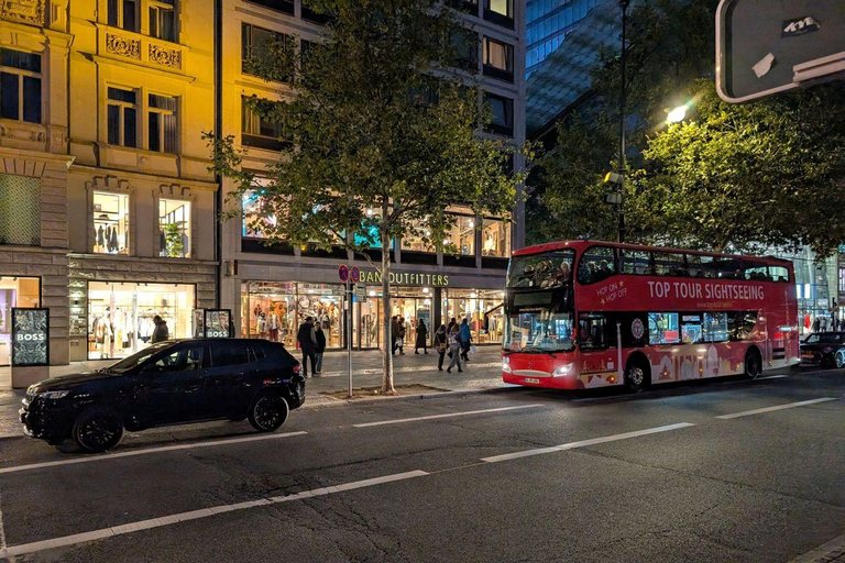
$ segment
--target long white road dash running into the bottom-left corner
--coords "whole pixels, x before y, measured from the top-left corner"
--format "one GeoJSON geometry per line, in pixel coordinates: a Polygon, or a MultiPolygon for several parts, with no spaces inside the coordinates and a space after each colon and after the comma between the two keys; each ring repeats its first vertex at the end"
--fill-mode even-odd
{"type": "Polygon", "coordinates": [[[18,555],[25,555],[29,553],[36,553],[39,551],[52,550],[56,548],[66,548],[68,545],[75,545],[77,543],[85,543],[95,540],[102,540],[106,538],[113,538],[116,536],[123,536],[141,530],[150,530],[153,528],[162,528],[164,526],[172,526],[178,522],[185,522],[188,520],[198,520],[200,518],[209,518],[215,515],[231,512],[233,510],[244,510],[248,508],[254,508],[259,506],[276,505],[279,503],[290,503],[294,500],[301,500],[304,498],[312,498],[325,495],[333,495],[336,493],[343,493],[345,490],[353,490],[356,488],[373,487],[375,485],[382,485],[384,483],[393,483],[396,481],[409,479],[414,477],[422,477],[428,475],[425,471],[409,471],[406,473],[396,473],[393,475],[384,475],[382,477],[375,477],[372,479],[355,481],[353,483],[345,483],[343,485],[337,485],[333,487],[323,487],[312,490],[304,490],[303,493],[296,493],[293,495],[286,495],[281,497],[261,498],[259,500],[249,500],[245,503],[237,503],[233,505],[221,505],[210,508],[202,508],[200,510],[191,510],[189,512],[180,512],[171,516],[163,516],[161,518],[151,518],[149,520],[141,520],[138,522],[130,522],[122,526],[114,526],[112,528],[102,528],[100,530],[92,530],[84,533],[75,533],[73,536],[64,536],[62,538],[53,538],[50,540],[35,541],[32,543],[24,543],[21,545],[8,547],[4,550],[0,550],[0,559],[15,558],[18,555]]]}

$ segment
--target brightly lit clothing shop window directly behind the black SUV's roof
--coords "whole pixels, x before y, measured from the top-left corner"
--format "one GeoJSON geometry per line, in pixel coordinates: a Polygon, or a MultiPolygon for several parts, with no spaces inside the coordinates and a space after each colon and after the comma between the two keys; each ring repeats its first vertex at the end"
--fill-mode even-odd
{"type": "Polygon", "coordinates": [[[154,317],[171,339],[191,336],[196,288],[189,284],[89,282],[88,358],[125,357],[152,344],[154,317]]]}

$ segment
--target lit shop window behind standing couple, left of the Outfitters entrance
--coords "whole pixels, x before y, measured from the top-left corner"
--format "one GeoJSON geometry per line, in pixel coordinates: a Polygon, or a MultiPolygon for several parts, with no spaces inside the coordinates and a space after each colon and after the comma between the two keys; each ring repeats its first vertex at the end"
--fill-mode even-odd
{"type": "Polygon", "coordinates": [[[320,323],[327,347],[342,347],[343,286],[252,282],[241,294],[241,336],[267,339],[296,349],[296,332],[308,317],[320,323]]]}

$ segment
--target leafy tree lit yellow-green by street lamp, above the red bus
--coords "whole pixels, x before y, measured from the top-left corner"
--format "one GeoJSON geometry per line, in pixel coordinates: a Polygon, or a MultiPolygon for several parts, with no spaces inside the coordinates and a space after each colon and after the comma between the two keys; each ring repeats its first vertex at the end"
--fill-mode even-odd
{"type": "Polygon", "coordinates": [[[747,104],[695,84],[695,114],[648,140],[635,207],[646,230],[722,251],[845,239],[845,87],[830,84],[747,104]]]}

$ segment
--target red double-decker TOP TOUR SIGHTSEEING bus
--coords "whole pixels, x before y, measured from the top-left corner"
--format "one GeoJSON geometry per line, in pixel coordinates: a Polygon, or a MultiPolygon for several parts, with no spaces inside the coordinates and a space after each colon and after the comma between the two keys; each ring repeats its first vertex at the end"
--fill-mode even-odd
{"type": "Polygon", "coordinates": [[[584,389],[795,365],[792,264],[771,257],[555,242],[515,252],[506,383],[584,389]]]}

